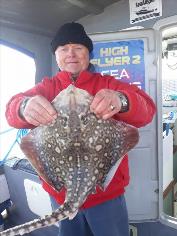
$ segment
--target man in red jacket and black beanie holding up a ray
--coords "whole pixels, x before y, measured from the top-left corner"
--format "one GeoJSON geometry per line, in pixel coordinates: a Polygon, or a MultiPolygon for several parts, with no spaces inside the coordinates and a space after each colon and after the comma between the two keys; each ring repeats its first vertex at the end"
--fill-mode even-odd
{"type": "MultiPolygon", "coordinates": [[[[57,114],[51,101],[70,84],[94,96],[90,109],[99,118],[113,117],[136,127],[152,121],[155,105],[144,91],[111,76],[89,71],[89,53],[93,50],[93,44],[82,25],[64,24],[51,46],[60,72],[12,97],[6,111],[11,126],[33,128],[52,122],[57,114]]],[[[107,189],[102,191],[97,187],[97,192],[87,198],[73,220],[60,222],[59,236],[128,236],[128,214],[124,199],[128,183],[126,155],[107,189]]],[[[43,187],[59,204],[64,202],[64,190],[57,192],[46,182],[43,182],[43,187]]]]}

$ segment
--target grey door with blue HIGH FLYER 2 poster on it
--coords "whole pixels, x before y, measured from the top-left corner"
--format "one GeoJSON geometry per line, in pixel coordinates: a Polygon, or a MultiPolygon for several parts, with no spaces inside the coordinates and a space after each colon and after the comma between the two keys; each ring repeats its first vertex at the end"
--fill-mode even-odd
{"type": "MultiPolygon", "coordinates": [[[[156,102],[157,64],[154,30],[91,35],[95,70],[136,84],[156,102]]],[[[158,158],[156,118],[140,128],[140,141],[129,153],[130,184],[126,200],[130,221],[158,218],[158,158]]]]}

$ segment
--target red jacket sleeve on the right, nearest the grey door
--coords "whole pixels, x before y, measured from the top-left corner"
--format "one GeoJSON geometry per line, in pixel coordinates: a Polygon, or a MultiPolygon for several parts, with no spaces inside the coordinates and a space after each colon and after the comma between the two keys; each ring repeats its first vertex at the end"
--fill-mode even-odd
{"type": "Polygon", "coordinates": [[[153,119],[156,107],[153,100],[143,90],[135,85],[110,80],[109,88],[125,94],[129,101],[129,110],[117,113],[114,118],[139,128],[147,125],[153,119]]]}

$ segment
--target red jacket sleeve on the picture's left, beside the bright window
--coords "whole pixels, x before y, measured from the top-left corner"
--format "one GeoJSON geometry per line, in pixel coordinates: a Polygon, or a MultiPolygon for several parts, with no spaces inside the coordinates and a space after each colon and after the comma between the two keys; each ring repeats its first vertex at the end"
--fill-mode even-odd
{"type": "Polygon", "coordinates": [[[24,100],[25,97],[33,97],[35,95],[42,95],[46,97],[49,101],[52,101],[54,97],[52,94],[52,86],[52,80],[44,78],[41,83],[37,84],[33,88],[27,90],[24,93],[18,93],[13,96],[6,105],[5,116],[8,124],[17,129],[34,128],[33,125],[27,123],[19,116],[19,108],[21,102],[24,100]]]}

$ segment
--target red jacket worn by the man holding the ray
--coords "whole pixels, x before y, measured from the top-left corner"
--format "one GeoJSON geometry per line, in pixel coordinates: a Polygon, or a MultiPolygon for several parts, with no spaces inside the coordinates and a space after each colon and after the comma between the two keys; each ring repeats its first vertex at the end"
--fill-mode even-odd
{"type": "MultiPolygon", "coordinates": [[[[68,72],[59,72],[53,78],[45,78],[32,89],[19,93],[11,98],[7,104],[6,118],[9,125],[15,128],[34,128],[19,116],[20,103],[26,96],[42,95],[49,101],[52,101],[57,94],[73,83],[71,75],[68,72]]],[[[111,76],[102,76],[99,73],[90,73],[83,71],[80,73],[74,85],[78,88],[87,90],[93,96],[103,88],[121,91],[128,97],[129,111],[125,113],[117,113],[114,118],[116,120],[125,121],[136,127],[142,127],[152,121],[155,113],[155,105],[152,99],[143,91],[134,85],[122,83],[111,76]]],[[[54,190],[48,183],[43,182],[43,188],[49,192],[58,203],[62,204],[65,199],[65,189],[60,192],[54,190]]],[[[82,208],[88,208],[104,201],[110,200],[124,193],[125,186],[129,183],[129,169],[127,155],[122,160],[109,186],[105,191],[97,187],[96,194],[88,196],[82,208]]]]}

